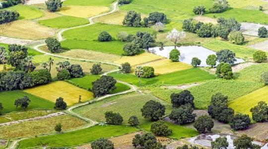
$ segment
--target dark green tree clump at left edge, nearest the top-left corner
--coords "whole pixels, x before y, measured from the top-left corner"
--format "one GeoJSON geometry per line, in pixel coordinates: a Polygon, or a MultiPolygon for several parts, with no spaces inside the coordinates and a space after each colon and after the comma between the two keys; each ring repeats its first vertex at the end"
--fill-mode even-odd
{"type": "Polygon", "coordinates": [[[16,11],[0,10],[0,24],[14,21],[18,17],[19,17],[19,13],[16,11]]]}

